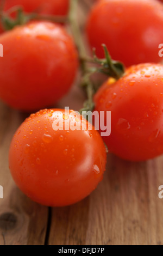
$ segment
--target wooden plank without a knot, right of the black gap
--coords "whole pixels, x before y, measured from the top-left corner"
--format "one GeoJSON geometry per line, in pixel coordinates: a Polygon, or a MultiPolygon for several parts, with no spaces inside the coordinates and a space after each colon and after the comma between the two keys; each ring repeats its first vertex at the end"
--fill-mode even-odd
{"type": "Polygon", "coordinates": [[[108,156],[91,196],[53,209],[50,245],[163,245],[163,157],[131,163],[108,156]]]}

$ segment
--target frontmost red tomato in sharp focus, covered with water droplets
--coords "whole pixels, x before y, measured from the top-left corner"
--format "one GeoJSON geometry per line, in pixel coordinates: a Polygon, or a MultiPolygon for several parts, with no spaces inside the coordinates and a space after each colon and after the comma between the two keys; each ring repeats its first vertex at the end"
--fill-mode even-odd
{"type": "Polygon", "coordinates": [[[82,125],[74,111],[67,115],[63,109],[45,109],[32,114],[10,145],[9,166],[17,186],[43,205],[76,203],[103,178],[106,152],[99,133],[86,120],[85,130],[53,130],[54,121],[66,120],[82,125]]]}

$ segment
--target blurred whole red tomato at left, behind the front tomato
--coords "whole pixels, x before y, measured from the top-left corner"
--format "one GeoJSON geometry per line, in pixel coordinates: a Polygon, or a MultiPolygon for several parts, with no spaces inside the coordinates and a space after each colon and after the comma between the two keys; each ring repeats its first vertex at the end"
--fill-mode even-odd
{"type": "Polygon", "coordinates": [[[78,54],[65,29],[32,22],[0,36],[0,97],[22,111],[53,104],[76,76],[78,54]]]}

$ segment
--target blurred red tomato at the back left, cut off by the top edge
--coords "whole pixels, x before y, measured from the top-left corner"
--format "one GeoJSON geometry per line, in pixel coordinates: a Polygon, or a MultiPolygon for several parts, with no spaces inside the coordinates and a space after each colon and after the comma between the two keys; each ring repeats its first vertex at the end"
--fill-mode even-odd
{"type": "Polygon", "coordinates": [[[69,0],[5,0],[4,10],[15,5],[23,7],[27,13],[39,11],[42,14],[66,15],[69,0]]]}

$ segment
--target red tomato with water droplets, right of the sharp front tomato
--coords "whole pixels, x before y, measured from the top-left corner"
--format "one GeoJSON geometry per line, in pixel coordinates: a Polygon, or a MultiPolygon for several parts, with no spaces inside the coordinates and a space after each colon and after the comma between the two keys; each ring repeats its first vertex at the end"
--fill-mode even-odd
{"type": "Polygon", "coordinates": [[[109,150],[132,161],[163,153],[163,66],[140,64],[95,95],[97,111],[111,111],[109,150]]]}

